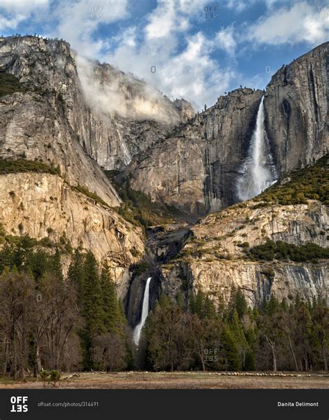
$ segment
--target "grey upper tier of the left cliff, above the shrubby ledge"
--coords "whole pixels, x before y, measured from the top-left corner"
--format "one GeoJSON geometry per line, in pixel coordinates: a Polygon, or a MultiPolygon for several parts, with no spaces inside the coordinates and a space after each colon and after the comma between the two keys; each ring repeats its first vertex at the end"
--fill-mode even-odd
{"type": "Polygon", "coordinates": [[[0,154],[59,165],[71,185],[84,185],[109,205],[119,197],[76,134],[87,120],[74,60],[66,42],[0,38],[0,67],[29,91],[1,97],[0,154]]]}

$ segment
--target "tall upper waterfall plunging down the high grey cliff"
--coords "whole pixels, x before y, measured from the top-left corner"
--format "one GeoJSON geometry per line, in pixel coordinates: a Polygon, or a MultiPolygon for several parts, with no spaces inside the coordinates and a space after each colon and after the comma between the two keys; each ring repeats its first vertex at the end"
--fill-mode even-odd
{"type": "Polygon", "coordinates": [[[252,199],[276,183],[276,167],[269,148],[264,126],[264,96],[258,108],[255,130],[251,137],[249,156],[244,162],[242,176],[237,183],[237,195],[242,201],[252,199]]]}

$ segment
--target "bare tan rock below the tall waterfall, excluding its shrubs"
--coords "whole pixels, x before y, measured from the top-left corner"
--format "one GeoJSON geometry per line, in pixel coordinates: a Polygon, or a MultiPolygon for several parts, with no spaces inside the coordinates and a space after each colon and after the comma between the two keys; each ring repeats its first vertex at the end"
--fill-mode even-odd
{"type": "Polygon", "coordinates": [[[313,242],[327,245],[328,206],[318,201],[303,205],[272,205],[254,208],[253,201],[201,219],[194,234],[176,260],[162,266],[162,288],[176,296],[201,287],[214,300],[227,301],[231,287],[240,287],[250,305],[273,293],[279,300],[296,296],[328,300],[327,261],[299,263],[246,260],[243,247],[263,244],[267,238],[301,245],[313,242]],[[183,278],[183,282],[182,279],[183,278]]]}

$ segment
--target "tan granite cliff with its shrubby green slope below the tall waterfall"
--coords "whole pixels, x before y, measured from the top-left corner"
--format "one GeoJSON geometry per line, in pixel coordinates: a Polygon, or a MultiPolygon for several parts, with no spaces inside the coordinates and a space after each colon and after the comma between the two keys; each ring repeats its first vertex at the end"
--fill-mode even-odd
{"type": "Polygon", "coordinates": [[[187,297],[201,288],[227,301],[235,286],[250,305],[271,294],[328,300],[328,163],[327,155],[257,199],[200,219],[176,258],[161,267],[165,292],[183,289],[187,297]]]}

